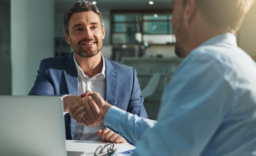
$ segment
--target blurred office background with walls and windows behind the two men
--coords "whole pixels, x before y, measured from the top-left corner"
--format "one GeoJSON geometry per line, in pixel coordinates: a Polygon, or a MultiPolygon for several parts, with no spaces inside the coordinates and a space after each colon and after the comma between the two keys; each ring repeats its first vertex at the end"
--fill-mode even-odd
{"type": "MultiPolygon", "coordinates": [[[[76,1],[0,0],[0,95],[27,95],[42,59],[72,51],[62,19],[76,1]]],[[[182,61],[174,54],[172,0],[93,3],[106,27],[103,55],[136,68],[145,108],[156,119],[163,90],[182,61]]],[[[256,3],[237,33],[237,43],[256,60],[255,15],[256,3]]]]}

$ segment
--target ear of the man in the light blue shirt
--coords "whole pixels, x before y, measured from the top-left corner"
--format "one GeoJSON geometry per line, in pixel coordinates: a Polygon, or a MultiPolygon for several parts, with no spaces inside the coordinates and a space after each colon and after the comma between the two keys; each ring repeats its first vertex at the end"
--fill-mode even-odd
{"type": "Polygon", "coordinates": [[[188,0],[185,6],[185,14],[184,14],[185,23],[190,24],[190,22],[194,17],[195,12],[196,12],[195,0],[188,0]]]}

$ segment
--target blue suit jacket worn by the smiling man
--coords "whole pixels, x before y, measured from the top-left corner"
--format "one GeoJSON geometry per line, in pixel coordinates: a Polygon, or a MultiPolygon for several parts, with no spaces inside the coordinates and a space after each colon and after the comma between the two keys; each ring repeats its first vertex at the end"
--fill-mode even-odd
{"type": "MultiPolygon", "coordinates": [[[[147,118],[134,68],[104,57],[105,101],[129,113],[147,118]]],[[[43,59],[37,78],[28,95],[78,95],[78,75],[73,52],[64,57],[43,59]]],[[[65,115],[66,139],[71,138],[71,117],[65,115]]]]}

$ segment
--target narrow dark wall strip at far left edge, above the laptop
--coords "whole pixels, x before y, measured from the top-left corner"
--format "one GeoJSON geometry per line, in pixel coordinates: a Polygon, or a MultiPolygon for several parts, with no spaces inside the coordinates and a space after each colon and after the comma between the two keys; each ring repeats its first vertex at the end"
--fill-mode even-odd
{"type": "Polygon", "coordinates": [[[0,1],[0,95],[11,95],[10,1],[0,1]]]}

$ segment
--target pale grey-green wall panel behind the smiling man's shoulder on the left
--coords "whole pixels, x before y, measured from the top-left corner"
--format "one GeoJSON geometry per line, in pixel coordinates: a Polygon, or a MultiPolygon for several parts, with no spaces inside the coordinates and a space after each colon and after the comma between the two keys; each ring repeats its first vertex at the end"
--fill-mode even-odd
{"type": "Polygon", "coordinates": [[[54,52],[54,0],[11,0],[12,95],[28,95],[39,63],[54,52]]]}

